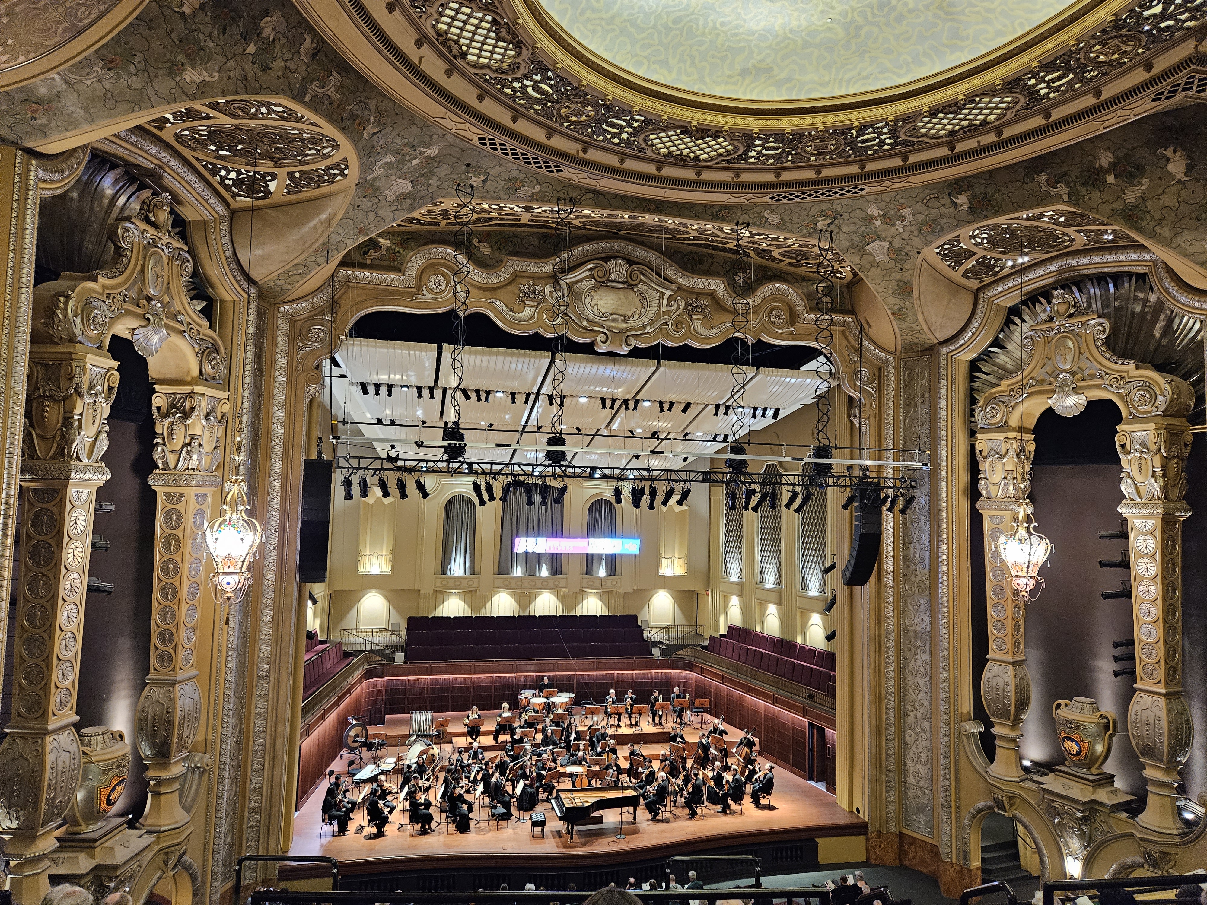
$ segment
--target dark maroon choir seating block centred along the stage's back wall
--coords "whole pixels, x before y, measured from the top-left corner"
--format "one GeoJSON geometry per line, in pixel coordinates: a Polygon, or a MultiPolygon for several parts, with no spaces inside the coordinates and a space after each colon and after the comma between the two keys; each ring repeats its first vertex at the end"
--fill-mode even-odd
{"type": "Polygon", "coordinates": [[[413,615],[407,662],[649,656],[636,615],[413,615]]]}

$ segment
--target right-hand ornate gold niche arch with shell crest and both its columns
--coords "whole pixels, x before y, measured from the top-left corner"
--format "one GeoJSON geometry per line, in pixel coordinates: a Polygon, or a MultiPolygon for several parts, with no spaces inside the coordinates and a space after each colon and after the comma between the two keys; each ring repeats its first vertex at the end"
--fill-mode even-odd
{"type": "Polygon", "coordinates": [[[1180,675],[1180,522],[1185,460],[1190,450],[1186,415],[1194,391],[1184,380],[1147,364],[1116,357],[1106,346],[1110,325],[1086,314],[1072,292],[1051,292],[1048,310],[1024,334],[1021,373],[990,390],[975,409],[976,508],[984,513],[990,653],[981,696],[993,722],[996,757],[990,776],[1026,777],[1019,754],[1022,723],[1031,707],[1024,640],[1026,597],[1013,588],[997,541],[1014,531],[1031,491],[1032,428],[1053,408],[1066,418],[1090,398],[1109,398],[1123,415],[1115,438],[1123,465],[1136,625],[1137,683],[1127,714],[1129,735],[1148,782],[1138,823],[1178,833],[1176,787],[1193,736],[1180,675]]]}

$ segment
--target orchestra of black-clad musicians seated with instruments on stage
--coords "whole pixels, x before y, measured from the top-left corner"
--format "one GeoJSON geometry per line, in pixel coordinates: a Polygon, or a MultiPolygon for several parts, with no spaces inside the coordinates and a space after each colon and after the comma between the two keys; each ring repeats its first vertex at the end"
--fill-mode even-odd
{"type": "Polygon", "coordinates": [[[756,807],[770,798],[775,767],[759,761],[758,740],[747,730],[730,745],[724,717],[707,717],[706,699],[690,700],[675,688],[669,700],[654,689],[642,700],[634,689],[623,696],[610,689],[601,703],[576,705],[575,695],[559,691],[548,677],[535,689],[524,689],[517,707],[503,702],[494,718],[494,746],[483,748],[486,719],[477,706],[462,719],[463,745],[448,730],[448,719],[431,712],[412,714],[406,753],[386,757],[384,738],[369,738],[358,718],[349,718],[344,735],[351,757],[348,775],[327,772],[322,800],[323,824],[334,835],[346,835],[356,815],[356,833],[375,839],[391,822],[398,830],[426,835],[435,827],[470,833],[483,818],[503,824],[527,822],[543,833],[548,801],[573,841],[575,828],[605,810],[643,808],[648,819],[670,819],[682,807],[687,819],[701,810],[731,815],[748,796],[756,807]],[[648,726],[657,734],[670,728],[665,749],[651,755],[640,738],[625,745],[613,735],[626,724],[629,735],[648,726]],[[623,720],[623,722],[622,722],[623,720]],[[689,722],[698,738],[684,734],[689,722]],[[437,747],[449,742],[450,751],[437,747]],[[498,749],[495,751],[494,748],[498,749]],[[391,786],[391,780],[397,784],[391,786]]]}

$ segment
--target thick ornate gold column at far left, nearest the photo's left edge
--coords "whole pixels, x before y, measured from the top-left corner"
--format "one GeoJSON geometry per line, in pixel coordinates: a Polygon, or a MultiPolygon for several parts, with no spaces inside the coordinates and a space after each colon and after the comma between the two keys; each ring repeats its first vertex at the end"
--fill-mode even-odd
{"type": "Polygon", "coordinates": [[[116,362],[84,345],[34,345],[30,358],[12,722],[0,746],[0,830],[18,901],[49,888],[46,856],[80,782],[80,637],[118,379],[116,362]]]}

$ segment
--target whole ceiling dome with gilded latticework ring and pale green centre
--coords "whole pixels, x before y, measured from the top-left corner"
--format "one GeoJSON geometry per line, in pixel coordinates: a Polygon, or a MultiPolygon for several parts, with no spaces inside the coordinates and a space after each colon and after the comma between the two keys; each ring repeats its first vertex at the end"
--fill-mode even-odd
{"type": "Polygon", "coordinates": [[[1207,0],[298,5],[461,138],[661,198],[814,200],[950,179],[1207,83],[1207,0]]]}

